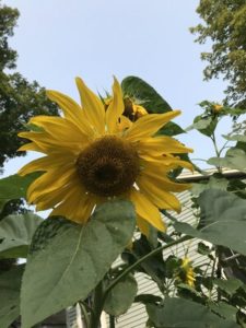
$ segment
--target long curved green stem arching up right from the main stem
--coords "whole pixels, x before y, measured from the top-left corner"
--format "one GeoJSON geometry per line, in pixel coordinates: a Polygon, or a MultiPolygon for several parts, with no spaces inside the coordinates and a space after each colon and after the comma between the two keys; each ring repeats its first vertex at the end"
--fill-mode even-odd
{"type": "MultiPolygon", "coordinates": [[[[109,293],[109,291],[124,278],[126,277],[128,273],[130,273],[136,267],[138,267],[139,265],[141,265],[143,261],[145,261],[147,259],[151,258],[152,256],[159,254],[160,251],[169,248],[174,245],[177,245],[179,243],[184,243],[186,241],[189,241],[194,237],[191,236],[184,236],[180,237],[179,239],[176,239],[174,242],[168,243],[167,245],[163,245],[159,248],[155,248],[154,250],[150,251],[149,254],[147,254],[145,256],[141,257],[138,261],[136,261],[133,265],[131,265],[130,267],[128,267],[126,270],[124,270],[124,272],[121,274],[119,274],[110,284],[109,286],[106,289],[105,293],[104,293],[104,300],[107,297],[107,294],[109,293]]],[[[104,302],[103,302],[104,303],[104,302]]]]}

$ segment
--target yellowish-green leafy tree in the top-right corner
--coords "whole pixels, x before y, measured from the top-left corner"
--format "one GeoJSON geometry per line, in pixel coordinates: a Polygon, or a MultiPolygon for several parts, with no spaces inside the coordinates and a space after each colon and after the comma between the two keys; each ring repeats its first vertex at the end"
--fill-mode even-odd
{"type": "Polygon", "coordinates": [[[229,81],[226,102],[246,106],[246,2],[245,0],[200,0],[197,12],[203,24],[191,27],[196,42],[212,42],[211,51],[202,52],[209,65],[204,79],[229,81]]]}

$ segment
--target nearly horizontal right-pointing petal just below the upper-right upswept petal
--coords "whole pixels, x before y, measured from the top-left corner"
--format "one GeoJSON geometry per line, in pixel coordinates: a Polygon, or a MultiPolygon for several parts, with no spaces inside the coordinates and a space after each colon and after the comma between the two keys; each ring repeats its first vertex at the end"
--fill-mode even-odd
{"type": "Polygon", "coordinates": [[[160,156],[165,153],[192,152],[190,148],[186,148],[179,141],[166,136],[141,139],[138,143],[138,150],[152,156],[160,156]]]}

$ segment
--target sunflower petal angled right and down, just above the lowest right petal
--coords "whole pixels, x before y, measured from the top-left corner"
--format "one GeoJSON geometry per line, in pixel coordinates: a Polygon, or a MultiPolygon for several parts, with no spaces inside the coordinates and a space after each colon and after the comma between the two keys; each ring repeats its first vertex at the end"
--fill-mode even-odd
{"type": "Polygon", "coordinates": [[[180,212],[180,202],[173,194],[163,190],[147,177],[144,179],[139,178],[137,184],[140,190],[150,199],[150,201],[152,201],[160,209],[175,210],[180,212]]]}

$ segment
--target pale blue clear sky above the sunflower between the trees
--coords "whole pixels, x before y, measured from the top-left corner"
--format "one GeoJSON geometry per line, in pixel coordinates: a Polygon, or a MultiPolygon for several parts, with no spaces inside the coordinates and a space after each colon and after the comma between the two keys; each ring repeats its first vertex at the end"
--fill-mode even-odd
{"type": "MultiPolygon", "coordinates": [[[[201,114],[198,103],[220,103],[223,81],[204,82],[200,52],[189,27],[200,20],[198,0],[5,0],[20,19],[10,44],[17,50],[17,71],[28,81],[58,90],[79,101],[74,78],[95,92],[110,90],[113,75],[120,81],[136,75],[150,83],[174,109],[183,128],[201,114]]],[[[222,124],[221,132],[229,130],[222,124]]],[[[214,155],[211,142],[197,131],[178,139],[195,150],[191,159],[214,155]]],[[[4,175],[14,174],[32,155],[11,160],[4,175]]],[[[204,167],[203,162],[196,162],[204,167]]]]}

